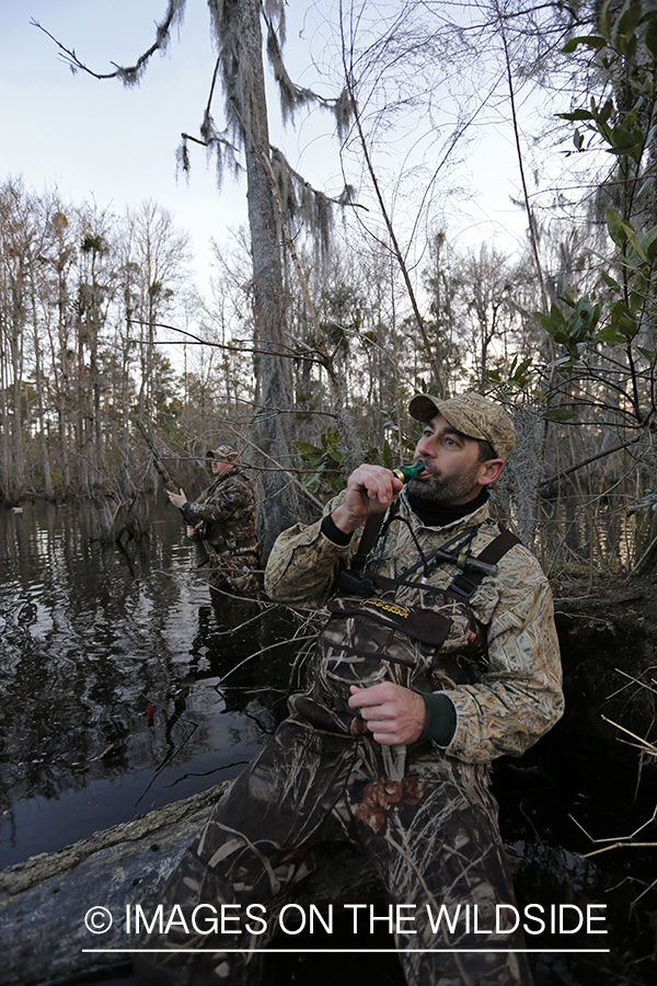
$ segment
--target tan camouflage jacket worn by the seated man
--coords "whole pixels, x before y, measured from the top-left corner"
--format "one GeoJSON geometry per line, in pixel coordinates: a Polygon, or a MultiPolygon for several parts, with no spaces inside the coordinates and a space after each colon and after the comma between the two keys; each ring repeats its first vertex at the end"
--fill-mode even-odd
{"type": "MultiPolygon", "coordinates": [[[[339,498],[326,505],[331,513],[339,498]]],[[[380,575],[395,578],[423,553],[447,544],[468,528],[475,528],[471,553],[477,555],[499,534],[485,504],[445,527],[426,527],[401,494],[400,520],[392,523],[378,564],[380,575]],[[411,532],[413,531],[413,534],[411,532]]],[[[348,565],[358,532],[346,547],[330,541],[321,521],[296,525],[276,541],[265,574],[268,595],[292,606],[321,608],[331,596],[337,573],[348,565]]],[[[380,542],[374,548],[379,558],[380,542]]],[[[429,585],[447,588],[460,569],[441,564],[429,585]]],[[[419,580],[418,569],[413,578],[419,580]]],[[[480,623],[486,628],[486,669],[482,680],[460,685],[448,693],[457,712],[454,735],[447,755],[469,763],[492,760],[503,754],[520,756],[561,718],[563,693],[561,661],[554,627],[552,596],[537,559],[516,544],[498,562],[496,575],[486,576],[471,597],[480,623]]]]}

